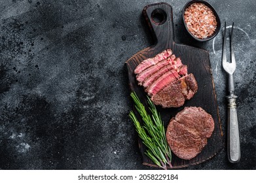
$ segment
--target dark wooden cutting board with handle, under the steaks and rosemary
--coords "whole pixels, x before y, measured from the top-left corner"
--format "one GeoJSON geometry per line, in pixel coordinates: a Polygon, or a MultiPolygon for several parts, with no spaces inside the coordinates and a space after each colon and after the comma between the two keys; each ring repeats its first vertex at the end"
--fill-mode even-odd
{"type": "MultiPolygon", "coordinates": [[[[173,12],[172,7],[169,4],[156,3],[147,5],[143,9],[143,15],[153,32],[156,44],[137,52],[137,54],[126,61],[130,90],[132,92],[135,91],[139,96],[139,99],[141,99],[141,102],[143,102],[144,105],[147,105],[147,93],[144,92],[141,86],[138,86],[134,69],[144,59],[153,58],[156,54],[159,54],[167,48],[171,48],[175,56],[181,58],[182,63],[188,66],[188,73],[192,73],[196,78],[196,81],[198,82],[198,92],[191,100],[186,101],[183,107],[157,107],[157,109],[161,114],[165,126],[167,126],[170,119],[184,107],[202,107],[206,112],[211,114],[215,121],[215,129],[202,152],[191,160],[177,158],[174,154],[172,159],[173,168],[187,167],[189,165],[202,163],[215,156],[215,154],[224,147],[219,110],[216,101],[213,77],[211,75],[209,53],[204,49],[174,42],[173,12]]],[[[138,115],[137,118],[139,118],[138,115]]],[[[141,139],[139,139],[139,149],[142,154],[143,164],[155,166],[151,159],[144,154],[146,148],[141,142],[141,139]]]]}

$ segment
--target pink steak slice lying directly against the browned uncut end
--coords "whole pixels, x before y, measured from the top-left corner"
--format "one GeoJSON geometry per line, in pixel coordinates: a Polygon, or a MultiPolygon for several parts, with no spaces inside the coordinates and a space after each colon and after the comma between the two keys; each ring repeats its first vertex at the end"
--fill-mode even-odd
{"type": "Polygon", "coordinates": [[[164,73],[164,75],[160,76],[147,88],[147,92],[149,96],[155,95],[157,92],[177,80],[180,76],[178,75],[177,71],[175,69],[172,69],[170,71],[167,71],[164,73]]]}

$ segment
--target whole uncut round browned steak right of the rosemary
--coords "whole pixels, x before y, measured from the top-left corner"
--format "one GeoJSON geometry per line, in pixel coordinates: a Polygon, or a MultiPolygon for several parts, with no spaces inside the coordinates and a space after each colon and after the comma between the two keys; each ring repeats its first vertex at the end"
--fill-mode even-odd
{"type": "Polygon", "coordinates": [[[214,120],[201,107],[185,107],[170,120],[166,139],[172,152],[181,159],[192,159],[207,144],[214,130],[214,120]]]}

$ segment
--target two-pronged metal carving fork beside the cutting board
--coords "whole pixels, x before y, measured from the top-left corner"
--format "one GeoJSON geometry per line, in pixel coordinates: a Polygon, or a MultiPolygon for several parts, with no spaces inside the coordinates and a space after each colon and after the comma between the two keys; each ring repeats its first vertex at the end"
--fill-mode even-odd
{"type": "Polygon", "coordinates": [[[228,158],[231,163],[237,163],[240,160],[240,139],[238,130],[238,118],[236,113],[236,98],[234,95],[234,78],[233,73],[236,70],[236,60],[234,58],[234,46],[232,42],[234,22],[232,24],[231,34],[230,34],[230,52],[231,52],[231,62],[227,62],[226,55],[226,22],[224,29],[224,41],[223,41],[223,55],[222,55],[222,65],[223,69],[229,74],[229,95],[228,99],[228,158]]]}

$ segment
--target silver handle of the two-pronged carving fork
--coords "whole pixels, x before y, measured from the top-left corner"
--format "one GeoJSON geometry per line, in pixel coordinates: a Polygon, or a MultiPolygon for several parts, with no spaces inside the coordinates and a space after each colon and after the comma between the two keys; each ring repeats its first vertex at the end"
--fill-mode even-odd
{"type": "Polygon", "coordinates": [[[228,99],[228,158],[231,163],[240,161],[240,139],[238,118],[236,112],[236,95],[227,96],[228,99]]]}

